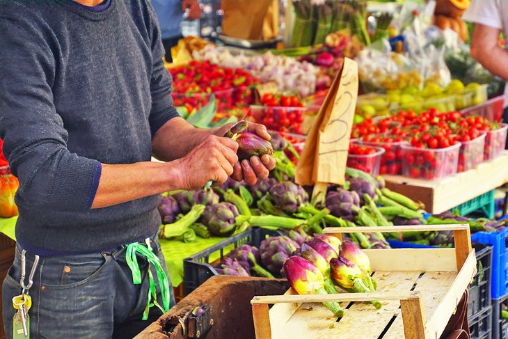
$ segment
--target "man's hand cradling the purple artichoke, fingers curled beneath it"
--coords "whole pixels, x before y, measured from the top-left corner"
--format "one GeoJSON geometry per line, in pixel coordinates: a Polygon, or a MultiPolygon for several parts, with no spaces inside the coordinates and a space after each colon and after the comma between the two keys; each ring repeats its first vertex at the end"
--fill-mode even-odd
{"type": "MultiPolygon", "coordinates": [[[[249,123],[247,130],[261,136],[265,140],[269,141],[271,139],[270,134],[267,132],[267,127],[264,127],[264,125],[249,123]]],[[[242,160],[241,163],[237,162],[235,164],[231,178],[237,181],[244,180],[246,184],[253,185],[257,182],[257,178],[268,178],[269,171],[275,168],[275,164],[275,158],[271,155],[262,155],[261,158],[251,157],[249,161],[242,160]]]]}

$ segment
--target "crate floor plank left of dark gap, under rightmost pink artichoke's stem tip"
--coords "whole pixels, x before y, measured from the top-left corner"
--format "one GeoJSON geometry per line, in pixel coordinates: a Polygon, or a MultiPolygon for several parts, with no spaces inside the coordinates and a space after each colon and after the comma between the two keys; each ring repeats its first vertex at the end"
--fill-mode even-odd
{"type": "MultiPolygon", "coordinates": [[[[420,272],[376,271],[373,278],[377,282],[377,292],[380,294],[397,291],[402,296],[408,294],[418,276],[420,272]]],[[[411,295],[416,297],[411,299],[418,300],[417,294],[411,292],[411,295]]],[[[400,301],[384,299],[381,300],[381,304],[382,307],[376,310],[370,303],[354,303],[335,325],[329,338],[379,338],[399,309],[400,301]]]]}

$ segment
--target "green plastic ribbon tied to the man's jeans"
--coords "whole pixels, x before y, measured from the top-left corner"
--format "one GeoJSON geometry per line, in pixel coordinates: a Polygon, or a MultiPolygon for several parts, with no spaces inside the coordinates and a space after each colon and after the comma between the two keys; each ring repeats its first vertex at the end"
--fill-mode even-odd
{"type": "Polygon", "coordinates": [[[157,308],[159,308],[162,313],[168,312],[170,307],[168,276],[166,276],[166,272],[162,268],[161,260],[159,260],[157,255],[154,255],[152,252],[150,239],[146,239],[145,242],[146,246],[139,242],[128,244],[127,251],[125,253],[125,260],[127,261],[127,265],[129,265],[129,268],[132,271],[132,281],[134,281],[135,285],[141,284],[141,270],[139,269],[136,255],[141,255],[141,257],[145,258],[148,261],[148,279],[150,282],[150,291],[148,292],[148,301],[146,303],[145,311],[143,312],[142,320],[148,319],[148,312],[153,306],[157,306],[157,308]],[[157,302],[157,283],[154,281],[154,276],[151,269],[152,266],[155,267],[155,271],[157,272],[157,281],[161,289],[162,306],[157,302]]]}

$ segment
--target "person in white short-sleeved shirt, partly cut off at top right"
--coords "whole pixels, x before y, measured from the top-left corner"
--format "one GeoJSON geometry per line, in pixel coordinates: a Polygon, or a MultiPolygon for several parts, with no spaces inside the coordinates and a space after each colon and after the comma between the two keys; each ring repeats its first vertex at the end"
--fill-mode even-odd
{"type": "MultiPolygon", "coordinates": [[[[508,0],[471,0],[462,19],[474,24],[471,56],[492,74],[508,81],[508,46],[499,45],[500,33],[508,38],[508,0]]],[[[508,86],[503,121],[508,122],[508,86]]]]}

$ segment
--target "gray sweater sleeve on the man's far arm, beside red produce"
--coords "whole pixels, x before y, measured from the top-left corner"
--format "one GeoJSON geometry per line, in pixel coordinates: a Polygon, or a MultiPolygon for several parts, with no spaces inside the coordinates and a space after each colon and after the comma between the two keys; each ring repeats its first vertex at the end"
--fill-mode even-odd
{"type": "Polygon", "coordinates": [[[148,11],[150,13],[150,36],[152,44],[152,79],[150,81],[150,93],[152,95],[152,109],[150,111],[150,130],[152,136],[162,127],[168,120],[179,116],[173,106],[173,97],[171,97],[171,74],[164,67],[164,46],[161,41],[161,31],[157,15],[148,3],[148,11]]]}

